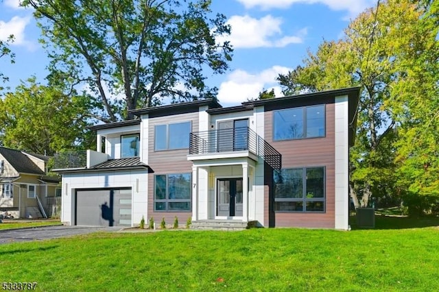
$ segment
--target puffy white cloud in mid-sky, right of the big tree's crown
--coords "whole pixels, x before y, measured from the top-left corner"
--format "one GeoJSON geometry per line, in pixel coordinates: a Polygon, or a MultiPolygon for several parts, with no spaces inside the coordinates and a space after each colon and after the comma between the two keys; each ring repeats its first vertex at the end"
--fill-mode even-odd
{"type": "Polygon", "coordinates": [[[271,15],[254,19],[248,15],[234,15],[228,19],[232,29],[230,36],[219,38],[219,42],[230,40],[235,48],[254,47],[285,47],[292,43],[303,42],[307,29],[300,29],[296,36],[283,36],[281,29],[283,21],[280,17],[271,15]]]}

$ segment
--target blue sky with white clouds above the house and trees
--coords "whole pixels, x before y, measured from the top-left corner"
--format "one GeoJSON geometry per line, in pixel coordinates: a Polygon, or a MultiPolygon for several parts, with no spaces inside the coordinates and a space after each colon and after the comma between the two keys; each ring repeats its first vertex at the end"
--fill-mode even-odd
{"type": "MultiPolygon", "coordinates": [[[[274,88],[279,73],[302,63],[307,49],[316,51],[323,39],[337,40],[350,19],[375,5],[372,0],[213,0],[214,13],[226,15],[232,27],[229,40],[235,48],[230,69],[208,76],[209,86],[219,88],[223,106],[233,106],[274,88]]],[[[10,78],[12,89],[35,75],[45,83],[49,63],[38,43],[39,28],[32,10],[19,8],[19,0],[0,0],[0,39],[14,34],[10,46],[15,64],[0,58],[0,71],[10,78]]]]}

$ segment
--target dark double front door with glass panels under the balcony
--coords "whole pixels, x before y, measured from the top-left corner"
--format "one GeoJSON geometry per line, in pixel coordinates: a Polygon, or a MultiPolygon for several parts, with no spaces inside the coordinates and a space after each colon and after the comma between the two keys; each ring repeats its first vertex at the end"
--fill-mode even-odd
{"type": "Polygon", "coordinates": [[[218,180],[217,216],[242,216],[242,178],[218,180]]]}

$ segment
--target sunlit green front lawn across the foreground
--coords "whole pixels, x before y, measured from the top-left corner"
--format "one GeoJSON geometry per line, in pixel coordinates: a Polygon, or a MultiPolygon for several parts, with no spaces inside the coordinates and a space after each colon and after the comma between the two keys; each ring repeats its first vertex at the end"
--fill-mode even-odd
{"type": "Polygon", "coordinates": [[[95,233],[0,245],[0,280],[40,291],[439,291],[438,259],[437,227],[95,233]]]}

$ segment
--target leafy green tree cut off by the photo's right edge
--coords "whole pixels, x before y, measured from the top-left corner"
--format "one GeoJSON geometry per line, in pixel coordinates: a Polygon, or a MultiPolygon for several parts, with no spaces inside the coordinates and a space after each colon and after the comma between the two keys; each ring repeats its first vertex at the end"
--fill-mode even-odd
{"type": "Polygon", "coordinates": [[[392,88],[399,123],[396,181],[412,215],[439,214],[439,3],[421,1],[418,38],[403,60],[405,77],[392,88]],[[416,45],[415,45],[416,44],[416,45]],[[422,46],[420,45],[422,44],[422,46]]]}

